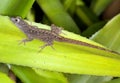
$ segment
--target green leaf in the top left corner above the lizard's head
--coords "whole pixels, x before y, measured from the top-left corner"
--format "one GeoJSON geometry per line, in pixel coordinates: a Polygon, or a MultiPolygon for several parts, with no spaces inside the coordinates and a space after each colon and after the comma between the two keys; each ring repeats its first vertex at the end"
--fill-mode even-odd
{"type": "Polygon", "coordinates": [[[0,14],[25,17],[35,0],[0,0],[0,14]],[[14,12],[14,13],[13,13],[14,12]]]}

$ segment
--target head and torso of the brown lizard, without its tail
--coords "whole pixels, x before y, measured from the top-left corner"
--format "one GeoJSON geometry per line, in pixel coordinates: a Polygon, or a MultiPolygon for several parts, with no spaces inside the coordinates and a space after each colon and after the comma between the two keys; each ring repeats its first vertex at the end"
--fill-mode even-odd
{"type": "Polygon", "coordinates": [[[61,33],[61,30],[51,25],[51,30],[40,29],[36,26],[31,26],[20,17],[12,17],[11,21],[26,34],[28,38],[39,39],[45,42],[53,42],[61,33]]]}

